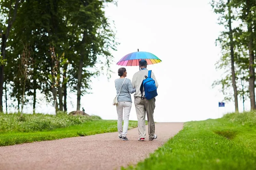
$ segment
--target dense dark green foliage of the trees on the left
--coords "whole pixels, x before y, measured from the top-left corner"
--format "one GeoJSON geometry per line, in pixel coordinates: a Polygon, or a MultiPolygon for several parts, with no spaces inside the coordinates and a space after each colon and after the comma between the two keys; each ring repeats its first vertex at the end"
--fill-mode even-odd
{"type": "MultiPolygon", "coordinates": [[[[8,94],[13,101],[18,101],[18,108],[23,96],[20,83],[23,77],[17,65],[21,63],[23,44],[31,50],[28,65],[31,75],[28,75],[25,84],[25,99],[35,97],[34,92],[39,89],[47,101],[53,103],[53,86],[56,87],[57,97],[62,97],[58,91],[62,92],[64,87],[76,92],[78,74],[82,74],[81,90],[85,94],[90,92],[91,77],[102,73],[109,76],[113,62],[111,53],[119,43],[115,41],[114,24],[105,16],[104,8],[108,3],[116,4],[116,1],[19,2],[6,44],[8,57],[4,69],[6,84],[12,87],[8,89],[8,94]],[[50,48],[54,48],[54,59],[50,48]],[[82,72],[79,70],[80,63],[82,72]]],[[[0,6],[1,33],[6,30],[10,1],[0,1],[0,6]]],[[[26,102],[29,103],[28,100],[26,102]]]]}

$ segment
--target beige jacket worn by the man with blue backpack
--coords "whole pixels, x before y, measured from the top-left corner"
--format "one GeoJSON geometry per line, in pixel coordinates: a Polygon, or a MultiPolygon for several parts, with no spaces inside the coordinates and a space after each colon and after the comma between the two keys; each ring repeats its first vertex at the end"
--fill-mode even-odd
{"type": "MultiPolygon", "coordinates": [[[[135,88],[136,91],[135,91],[135,94],[134,94],[134,98],[135,97],[141,97],[141,92],[140,92],[140,86],[141,86],[141,83],[145,78],[145,76],[148,76],[148,70],[140,70],[138,72],[136,72],[133,77],[132,77],[132,88],[135,88]]],[[[153,71],[151,71],[151,78],[153,78],[156,82],[156,87],[158,87],[158,83],[156,81],[156,77],[153,73],[153,71]]],[[[145,95],[145,92],[144,92],[144,88],[143,88],[143,96],[145,95]]]]}

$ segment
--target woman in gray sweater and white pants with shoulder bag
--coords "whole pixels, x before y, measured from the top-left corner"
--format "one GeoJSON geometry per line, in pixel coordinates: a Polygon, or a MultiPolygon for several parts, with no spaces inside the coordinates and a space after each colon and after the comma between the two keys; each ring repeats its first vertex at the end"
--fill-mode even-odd
{"type": "Polygon", "coordinates": [[[119,139],[123,140],[129,140],[127,135],[128,130],[128,123],[129,123],[129,115],[132,108],[132,98],[130,93],[135,92],[135,88],[132,89],[132,82],[130,79],[125,78],[127,75],[125,68],[118,69],[118,76],[120,78],[117,78],[115,80],[115,86],[116,86],[116,93],[119,95],[117,97],[117,105],[116,105],[116,111],[117,111],[117,129],[118,129],[118,137],[119,139]],[[122,122],[123,122],[123,110],[124,110],[124,127],[122,129],[122,122]]]}

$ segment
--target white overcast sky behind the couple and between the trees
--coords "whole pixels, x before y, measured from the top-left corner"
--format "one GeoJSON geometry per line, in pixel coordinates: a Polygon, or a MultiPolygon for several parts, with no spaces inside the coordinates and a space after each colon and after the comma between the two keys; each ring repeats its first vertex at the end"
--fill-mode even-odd
{"type": "MultiPolygon", "coordinates": [[[[220,58],[220,48],[215,39],[222,27],[217,24],[209,0],[119,0],[118,6],[109,5],[106,15],[115,21],[117,41],[121,44],[113,53],[115,63],[124,55],[148,51],[158,56],[162,63],[149,65],[159,83],[154,118],[156,122],[186,122],[221,117],[233,112],[234,104],[218,107],[223,100],[218,89],[212,89],[214,80],[221,72],[214,64],[220,58]]],[[[113,64],[113,71],[120,66],[113,64]]],[[[139,67],[126,67],[127,78],[139,67]]],[[[116,107],[112,105],[116,89],[117,73],[108,80],[104,76],[93,78],[92,94],[81,99],[81,110],[103,119],[117,119],[116,107]]],[[[76,94],[69,94],[68,112],[76,110],[76,94]]],[[[132,94],[133,100],[133,94],[132,94]]],[[[38,105],[37,105],[38,106],[38,105]]],[[[250,109],[249,101],[245,108],[250,109]]],[[[31,106],[26,110],[31,112],[31,106]]],[[[243,111],[239,101],[239,110],[243,111]]],[[[36,109],[52,114],[53,107],[42,104],[36,109]]],[[[134,105],[130,120],[137,120],[134,105]]]]}

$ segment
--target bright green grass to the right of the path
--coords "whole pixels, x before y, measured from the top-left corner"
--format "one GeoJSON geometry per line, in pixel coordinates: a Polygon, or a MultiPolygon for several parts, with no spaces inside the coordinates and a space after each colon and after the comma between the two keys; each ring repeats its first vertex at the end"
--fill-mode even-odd
{"type": "Polygon", "coordinates": [[[186,122],[149,158],[122,169],[255,170],[256,113],[186,122]]]}

